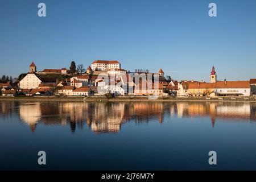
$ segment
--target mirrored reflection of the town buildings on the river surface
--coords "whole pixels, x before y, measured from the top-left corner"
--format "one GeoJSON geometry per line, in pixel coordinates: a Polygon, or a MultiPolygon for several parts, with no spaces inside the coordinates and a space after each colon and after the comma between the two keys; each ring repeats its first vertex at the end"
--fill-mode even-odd
{"type": "Polygon", "coordinates": [[[117,133],[122,123],[164,122],[164,118],[208,117],[214,127],[221,121],[255,121],[254,102],[15,102],[1,101],[1,117],[17,113],[36,130],[44,125],[69,125],[72,132],[90,127],[94,133],[117,133]]]}

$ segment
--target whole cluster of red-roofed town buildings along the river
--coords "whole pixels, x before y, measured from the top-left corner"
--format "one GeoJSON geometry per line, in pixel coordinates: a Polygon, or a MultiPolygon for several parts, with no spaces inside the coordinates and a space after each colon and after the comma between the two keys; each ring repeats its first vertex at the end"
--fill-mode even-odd
{"type": "MultiPolygon", "coordinates": [[[[166,81],[164,72],[157,73],[126,72],[119,61],[93,61],[82,75],[69,75],[63,80],[45,77],[47,74],[69,75],[63,69],[44,69],[36,71],[34,62],[30,72],[14,89],[8,84],[2,89],[3,96],[24,94],[27,96],[49,96],[63,94],[66,96],[101,96],[112,93],[117,96],[250,96],[256,94],[256,79],[250,81],[218,81],[214,67],[210,72],[210,82],[204,81],[166,81]]],[[[1,85],[1,84],[0,84],[1,85]]]]}

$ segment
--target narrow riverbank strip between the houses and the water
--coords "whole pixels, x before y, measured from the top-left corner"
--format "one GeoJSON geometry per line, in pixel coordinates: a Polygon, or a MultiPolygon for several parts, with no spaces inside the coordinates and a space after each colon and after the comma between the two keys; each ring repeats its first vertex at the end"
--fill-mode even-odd
{"type": "Polygon", "coordinates": [[[106,98],[105,96],[96,97],[56,97],[56,96],[24,96],[24,97],[6,97],[0,96],[0,101],[229,101],[229,102],[256,102],[256,97],[214,97],[214,98],[207,98],[207,97],[147,97],[147,96],[120,96],[114,98],[106,98]]]}

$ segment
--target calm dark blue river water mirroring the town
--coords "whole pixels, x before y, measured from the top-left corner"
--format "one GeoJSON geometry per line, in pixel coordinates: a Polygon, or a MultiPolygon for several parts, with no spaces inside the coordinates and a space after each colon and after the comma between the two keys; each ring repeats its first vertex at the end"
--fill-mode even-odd
{"type": "Polygon", "coordinates": [[[256,169],[256,103],[0,101],[0,169],[256,169]],[[47,165],[38,165],[38,151],[47,165]],[[217,166],[208,152],[217,152],[217,166]]]}

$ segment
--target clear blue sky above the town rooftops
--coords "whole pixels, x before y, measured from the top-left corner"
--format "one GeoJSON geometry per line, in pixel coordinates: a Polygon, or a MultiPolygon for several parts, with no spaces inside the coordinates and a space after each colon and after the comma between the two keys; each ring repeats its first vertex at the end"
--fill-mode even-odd
{"type": "Polygon", "coordinates": [[[177,80],[209,81],[213,64],[218,80],[256,78],[255,0],[0,0],[0,19],[0,75],[119,60],[177,80]]]}

